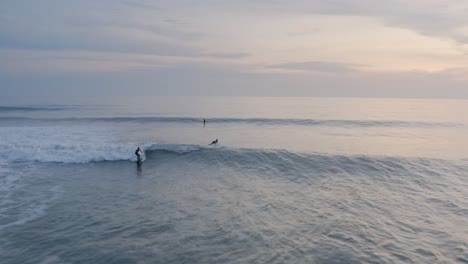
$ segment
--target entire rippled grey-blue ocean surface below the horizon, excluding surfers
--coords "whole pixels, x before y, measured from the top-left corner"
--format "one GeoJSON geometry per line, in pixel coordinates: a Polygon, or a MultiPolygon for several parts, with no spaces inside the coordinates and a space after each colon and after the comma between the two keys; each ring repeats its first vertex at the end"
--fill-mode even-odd
{"type": "Polygon", "coordinates": [[[2,105],[0,263],[468,263],[467,114],[414,99],[2,105]]]}

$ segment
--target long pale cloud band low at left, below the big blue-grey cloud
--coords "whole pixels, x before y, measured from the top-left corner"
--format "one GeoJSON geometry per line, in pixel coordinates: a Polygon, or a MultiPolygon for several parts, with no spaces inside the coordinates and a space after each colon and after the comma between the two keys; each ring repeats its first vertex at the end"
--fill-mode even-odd
{"type": "Polygon", "coordinates": [[[86,72],[135,72],[176,65],[198,65],[216,68],[234,67],[236,60],[245,53],[207,53],[200,57],[171,57],[121,52],[70,51],[70,50],[24,50],[0,48],[0,71],[21,73],[86,73],[86,72]]]}

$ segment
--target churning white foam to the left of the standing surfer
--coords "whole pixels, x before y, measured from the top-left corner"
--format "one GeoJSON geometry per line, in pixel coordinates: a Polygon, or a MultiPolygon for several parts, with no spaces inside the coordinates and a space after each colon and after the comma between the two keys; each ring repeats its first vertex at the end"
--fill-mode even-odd
{"type": "Polygon", "coordinates": [[[109,128],[88,127],[3,127],[0,128],[0,159],[89,163],[99,161],[135,161],[135,149],[166,150],[178,154],[204,149],[196,145],[155,144],[152,142],[116,142],[109,128]]]}

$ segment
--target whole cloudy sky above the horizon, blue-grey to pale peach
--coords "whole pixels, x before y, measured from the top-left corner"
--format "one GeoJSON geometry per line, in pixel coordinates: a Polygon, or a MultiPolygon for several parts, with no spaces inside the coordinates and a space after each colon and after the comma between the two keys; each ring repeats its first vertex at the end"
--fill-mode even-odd
{"type": "Polygon", "coordinates": [[[2,0],[0,92],[468,99],[468,1],[2,0]]]}

